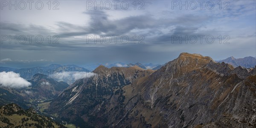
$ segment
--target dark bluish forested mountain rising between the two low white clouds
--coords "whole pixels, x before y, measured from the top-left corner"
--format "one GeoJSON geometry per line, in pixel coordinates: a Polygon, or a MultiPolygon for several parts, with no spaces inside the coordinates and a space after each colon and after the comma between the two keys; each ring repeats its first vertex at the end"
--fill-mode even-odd
{"type": "Polygon", "coordinates": [[[69,84],[55,81],[47,75],[35,74],[31,80],[32,85],[25,88],[11,88],[0,86],[0,105],[16,103],[23,108],[36,105],[38,102],[58,96],[69,84]]]}

